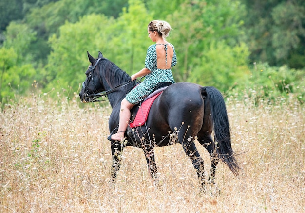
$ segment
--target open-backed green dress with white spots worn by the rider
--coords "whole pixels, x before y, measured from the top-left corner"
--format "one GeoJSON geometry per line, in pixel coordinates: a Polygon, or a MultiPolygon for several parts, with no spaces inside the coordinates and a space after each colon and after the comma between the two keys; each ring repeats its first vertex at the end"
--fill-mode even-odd
{"type": "MultiPolygon", "coordinates": [[[[152,93],[153,89],[160,82],[171,82],[175,83],[171,69],[158,69],[157,68],[157,45],[164,44],[153,44],[147,49],[145,67],[148,68],[151,73],[145,76],[145,80],[139,83],[132,91],[126,95],[126,100],[132,104],[138,104],[144,100],[149,94],[152,93]]],[[[172,44],[165,44],[164,49],[167,51],[167,46],[171,45],[173,48],[172,64],[171,68],[177,64],[177,56],[175,48],[172,44]]],[[[167,52],[166,52],[167,55],[167,52]]]]}

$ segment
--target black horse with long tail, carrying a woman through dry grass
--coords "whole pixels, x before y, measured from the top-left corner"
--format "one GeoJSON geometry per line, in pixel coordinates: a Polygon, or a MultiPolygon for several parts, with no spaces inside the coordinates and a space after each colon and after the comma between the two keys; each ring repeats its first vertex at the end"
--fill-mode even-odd
{"type": "MultiPolygon", "coordinates": [[[[87,52],[88,53],[88,52],[87,52]]],[[[98,59],[88,53],[90,66],[82,84],[79,97],[83,103],[97,101],[107,96],[113,111],[109,118],[109,130],[113,134],[119,124],[120,103],[125,95],[136,86],[130,76],[99,52],[98,59]]],[[[134,117],[139,107],[134,106],[134,117]]],[[[110,137],[109,137],[110,139],[110,137]]],[[[204,162],[200,157],[195,140],[210,153],[211,170],[209,182],[214,183],[216,166],[221,159],[238,175],[239,166],[231,148],[230,127],[226,105],[221,93],[214,87],[181,82],[168,86],[152,103],[145,125],[125,132],[125,141],[111,141],[113,155],[112,180],[120,168],[120,154],[125,146],[143,149],[150,175],[156,178],[157,166],[153,147],[180,143],[190,158],[202,184],[205,184],[204,162]],[[212,131],[214,140],[212,139],[212,131]]]]}

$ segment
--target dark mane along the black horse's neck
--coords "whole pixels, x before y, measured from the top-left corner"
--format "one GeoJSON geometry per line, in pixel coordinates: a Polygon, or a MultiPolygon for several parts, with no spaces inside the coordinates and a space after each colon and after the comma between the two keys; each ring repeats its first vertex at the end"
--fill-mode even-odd
{"type": "Polygon", "coordinates": [[[114,88],[115,86],[128,82],[131,80],[131,77],[122,69],[120,69],[118,66],[116,66],[113,62],[109,61],[106,58],[101,58],[100,60],[100,66],[99,66],[99,76],[106,79],[108,85],[111,88],[114,88]],[[101,71],[103,73],[101,73],[101,71]]]}

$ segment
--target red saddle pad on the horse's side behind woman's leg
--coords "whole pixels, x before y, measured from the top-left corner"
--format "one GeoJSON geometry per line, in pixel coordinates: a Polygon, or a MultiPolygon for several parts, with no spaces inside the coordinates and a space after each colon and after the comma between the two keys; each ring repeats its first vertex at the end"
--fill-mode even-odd
{"type": "Polygon", "coordinates": [[[139,127],[144,125],[146,122],[149,110],[151,109],[153,101],[161,94],[162,92],[152,96],[152,98],[148,98],[142,104],[137,114],[135,115],[134,121],[130,122],[129,125],[131,128],[139,127]]]}

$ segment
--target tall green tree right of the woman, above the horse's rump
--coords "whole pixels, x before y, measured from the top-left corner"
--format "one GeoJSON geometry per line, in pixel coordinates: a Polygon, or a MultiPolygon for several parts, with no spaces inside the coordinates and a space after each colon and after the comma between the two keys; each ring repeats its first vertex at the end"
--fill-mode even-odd
{"type": "Polygon", "coordinates": [[[221,90],[227,90],[237,81],[248,62],[248,49],[240,41],[243,12],[243,6],[233,0],[187,0],[168,16],[174,29],[171,39],[178,54],[178,64],[173,68],[177,81],[212,84],[221,90]],[[238,51],[246,54],[242,62],[238,51]],[[223,84],[217,76],[228,82],[223,84]]]}

